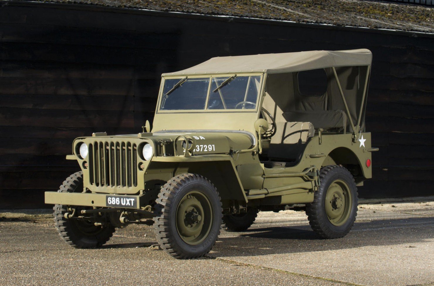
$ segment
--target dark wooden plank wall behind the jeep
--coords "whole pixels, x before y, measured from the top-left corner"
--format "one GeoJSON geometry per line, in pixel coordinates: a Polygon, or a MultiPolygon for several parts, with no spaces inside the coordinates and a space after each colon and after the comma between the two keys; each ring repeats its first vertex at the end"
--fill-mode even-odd
{"type": "Polygon", "coordinates": [[[432,195],[434,38],[415,33],[0,2],[0,208],[43,206],[79,170],[75,137],[137,133],[162,72],[213,56],[371,49],[366,125],[374,179],[361,197],[432,195]]]}

